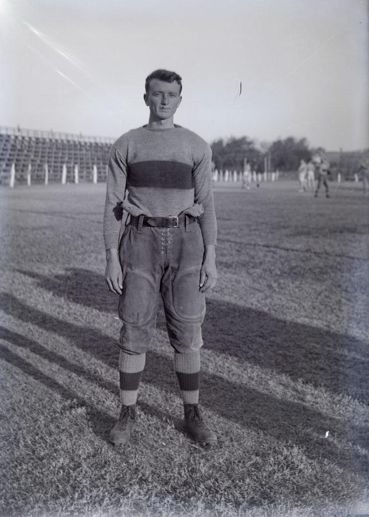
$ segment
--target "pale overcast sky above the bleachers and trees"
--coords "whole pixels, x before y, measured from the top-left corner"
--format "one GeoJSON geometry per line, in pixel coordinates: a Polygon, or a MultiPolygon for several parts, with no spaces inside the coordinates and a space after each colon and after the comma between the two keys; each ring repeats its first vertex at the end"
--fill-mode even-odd
{"type": "Polygon", "coordinates": [[[0,0],[0,29],[1,125],[118,137],[167,68],[175,122],[208,142],[369,143],[366,1],[0,0]]]}

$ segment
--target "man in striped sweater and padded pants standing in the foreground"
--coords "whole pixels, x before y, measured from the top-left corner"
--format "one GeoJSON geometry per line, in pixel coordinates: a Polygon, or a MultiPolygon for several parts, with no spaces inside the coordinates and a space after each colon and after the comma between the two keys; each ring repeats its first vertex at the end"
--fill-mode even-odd
{"type": "Polygon", "coordinates": [[[136,423],[138,387],[160,293],[184,403],[182,428],[197,442],[213,444],[217,437],[198,406],[204,293],[217,280],[211,148],[197,134],[173,123],[182,100],[177,73],[156,70],[147,77],[145,89],[149,123],[123,134],[109,155],[105,280],[108,290],[120,295],[123,323],[122,408],[109,439],[114,445],[127,443],[136,423]],[[125,227],[121,227],[123,209],[130,214],[125,227]]]}

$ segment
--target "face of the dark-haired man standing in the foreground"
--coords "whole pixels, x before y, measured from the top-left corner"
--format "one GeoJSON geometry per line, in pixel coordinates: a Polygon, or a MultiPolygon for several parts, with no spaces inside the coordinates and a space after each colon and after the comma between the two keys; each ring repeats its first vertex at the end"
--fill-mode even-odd
{"type": "Polygon", "coordinates": [[[177,81],[167,83],[159,79],[150,81],[149,93],[143,96],[156,120],[165,120],[174,115],[181,104],[180,85],[177,81]]]}

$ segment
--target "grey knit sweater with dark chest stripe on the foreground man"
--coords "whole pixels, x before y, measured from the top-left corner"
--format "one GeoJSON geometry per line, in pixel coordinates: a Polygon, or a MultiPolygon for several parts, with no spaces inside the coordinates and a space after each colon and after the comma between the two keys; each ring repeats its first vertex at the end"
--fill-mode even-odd
{"type": "Polygon", "coordinates": [[[132,215],[166,217],[177,216],[194,204],[196,208],[189,213],[201,214],[204,244],[216,244],[211,157],[210,146],[200,136],[177,125],[169,129],[143,126],[120,136],[109,154],[105,248],[119,246],[123,208],[132,215]]]}

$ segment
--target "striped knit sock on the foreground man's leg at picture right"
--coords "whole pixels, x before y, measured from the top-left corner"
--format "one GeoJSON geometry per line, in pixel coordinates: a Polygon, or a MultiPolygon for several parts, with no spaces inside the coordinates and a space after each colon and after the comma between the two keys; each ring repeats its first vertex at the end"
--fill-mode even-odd
{"type": "Polygon", "coordinates": [[[174,370],[182,391],[183,404],[199,403],[200,352],[174,352],[174,370]]]}

